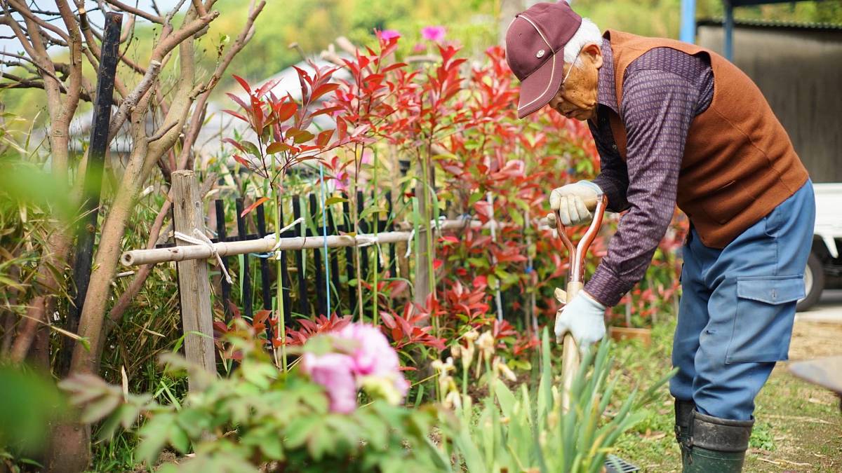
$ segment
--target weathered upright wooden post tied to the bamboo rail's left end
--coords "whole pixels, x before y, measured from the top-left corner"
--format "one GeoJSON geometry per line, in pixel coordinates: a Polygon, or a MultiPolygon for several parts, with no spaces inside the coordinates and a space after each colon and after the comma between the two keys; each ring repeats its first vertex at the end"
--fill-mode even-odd
{"type": "MultiPolygon", "coordinates": [[[[193,171],[173,173],[173,225],[175,231],[192,235],[194,229],[205,230],[199,181],[193,171]]],[[[176,240],[181,246],[184,242],[176,240]]],[[[188,244],[189,245],[189,244],[188,244]]],[[[191,245],[192,246],[192,245],[191,245]]],[[[213,345],[213,313],[210,311],[210,279],[203,259],[178,263],[181,320],[184,327],[184,353],[187,359],[210,373],[216,373],[213,345]]],[[[203,389],[189,379],[189,391],[203,389]]]]}

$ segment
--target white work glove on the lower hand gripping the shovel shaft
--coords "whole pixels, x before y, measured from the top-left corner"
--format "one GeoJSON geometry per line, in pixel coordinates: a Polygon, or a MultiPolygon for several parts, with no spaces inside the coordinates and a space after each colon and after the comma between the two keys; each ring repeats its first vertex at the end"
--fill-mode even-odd
{"type": "Polygon", "coordinates": [[[570,332],[580,350],[605,337],[605,306],[594,300],[584,290],[579,291],[570,303],[556,313],[556,340],[562,341],[570,332]]]}

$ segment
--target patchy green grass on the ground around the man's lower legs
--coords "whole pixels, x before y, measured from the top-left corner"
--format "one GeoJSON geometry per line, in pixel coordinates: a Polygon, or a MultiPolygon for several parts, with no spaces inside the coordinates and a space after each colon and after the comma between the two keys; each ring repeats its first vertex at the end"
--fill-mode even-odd
{"type": "MultiPolygon", "coordinates": [[[[674,322],[653,329],[652,345],[617,344],[624,393],[647,386],[670,368],[674,322]]],[[[756,400],[757,418],[745,471],[838,471],[842,468],[842,415],[839,400],[817,386],[797,380],[779,364],[756,400]]],[[[647,407],[647,417],[621,436],[617,451],[644,471],[680,471],[675,443],[673,398],[663,386],[647,407]]]]}

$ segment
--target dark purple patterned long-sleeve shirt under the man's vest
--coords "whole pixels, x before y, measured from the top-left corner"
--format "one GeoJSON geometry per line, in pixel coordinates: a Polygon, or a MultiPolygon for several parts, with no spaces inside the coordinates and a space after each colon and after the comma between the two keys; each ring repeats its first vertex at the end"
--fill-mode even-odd
{"type": "Polygon", "coordinates": [[[622,103],[617,104],[608,40],[601,49],[597,115],[589,121],[600,153],[594,183],[608,196],[609,210],[628,212],[585,290],[605,306],[615,306],[646,274],[672,219],[687,131],[711,104],[713,72],[707,58],[655,48],[626,68],[622,103]],[[625,162],[611,133],[612,113],[626,128],[625,162]]]}

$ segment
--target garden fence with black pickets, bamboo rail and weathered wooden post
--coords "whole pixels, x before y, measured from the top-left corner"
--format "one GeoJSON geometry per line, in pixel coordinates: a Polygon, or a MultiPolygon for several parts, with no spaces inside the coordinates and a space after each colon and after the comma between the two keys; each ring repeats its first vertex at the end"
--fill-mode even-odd
{"type": "MultiPolygon", "coordinates": [[[[224,202],[221,199],[214,201],[213,212],[216,220],[216,237],[205,236],[205,211],[202,196],[199,192],[198,180],[192,171],[179,171],[173,173],[173,228],[177,232],[175,242],[161,245],[152,250],[131,250],[123,254],[121,261],[127,266],[134,266],[147,263],[160,263],[165,261],[176,262],[179,279],[179,302],[184,333],[185,354],[188,359],[200,364],[209,371],[216,370],[215,348],[213,345],[213,308],[211,307],[211,289],[207,258],[219,258],[226,271],[232,271],[231,257],[239,255],[242,259],[237,265],[240,277],[238,278],[241,290],[242,315],[253,316],[253,307],[260,306],[265,310],[273,308],[272,298],[272,277],[268,257],[279,251],[280,258],[280,284],[282,284],[282,301],[284,305],[285,323],[287,326],[292,322],[292,315],[313,316],[330,315],[330,313],[354,313],[363,311],[365,307],[359,307],[359,298],[354,284],[347,284],[354,279],[354,247],[360,251],[361,278],[367,280],[370,273],[371,252],[377,252],[377,271],[382,273],[387,267],[389,274],[396,276],[398,273],[397,244],[406,242],[411,245],[413,237],[423,240],[423,229],[415,231],[408,228],[396,229],[395,222],[383,220],[380,212],[374,212],[369,219],[360,221],[360,234],[347,235],[354,231],[353,223],[349,219],[349,199],[345,196],[343,202],[342,221],[338,221],[333,210],[328,205],[327,228],[322,225],[315,226],[313,231],[307,228],[306,221],[321,222],[322,209],[319,209],[315,194],[306,196],[293,196],[291,198],[292,220],[301,223],[282,231],[280,239],[274,239],[274,231],[266,227],[266,215],[263,206],[258,206],[256,211],[242,216],[244,203],[242,199],[236,200],[237,211],[237,235],[229,236],[226,226],[224,202]],[[306,201],[308,210],[303,211],[302,203],[306,201]],[[318,217],[318,218],[317,218],[318,217]],[[249,233],[248,228],[253,227],[255,232],[249,233]],[[327,232],[325,232],[327,230],[327,232]],[[180,237],[178,237],[180,235],[180,237]],[[189,237],[194,235],[194,237],[189,237]],[[268,238],[271,236],[271,238],[268,238]],[[196,241],[196,239],[201,241],[196,241]],[[325,247],[344,247],[344,262],[340,260],[339,252],[323,253],[325,247]],[[312,250],[312,253],[311,253],[312,250]],[[295,272],[296,284],[293,287],[290,274],[288,252],[294,252],[291,258],[294,260],[292,269],[295,272]],[[382,255],[382,258],[380,257],[382,255]],[[387,256],[386,256],[387,255],[387,256]],[[315,292],[308,290],[306,282],[306,270],[309,267],[305,263],[305,256],[312,257],[312,271],[315,279],[315,292]],[[325,257],[327,256],[327,261],[325,257]],[[251,258],[258,258],[255,274],[252,274],[251,258]],[[384,261],[385,260],[385,261],[384,261]],[[340,264],[344,263],[344,264],[340,264]],[[386,265],[386,266],[384,266],[386,265]],[[327,268],[326,268],[327,266],[327,268]],[[326,270],[327,269],[327,270],[326,270]],[[344,269],[345,284],[341,284],[342,271],[344,269]],[[326,284],[326,275],[329,274],[330,284],[326,284]],[[254,280],[253,280],[254,279],[254,280]],[[259,283],[258,283],[259,281],[259,283]],[[330,289],[328,289],[330,286],[330,289]],[[259,287],[259,291],[257,288],[259,287]],[[340,290],[340,288],[345,288],[340,290]],[[329,291],[329,292],[328,292],[329,291]],[[330,294],[331,297],[328,296],[330,294]],[[336,303],[328,307],[328,298],[336,303]]],[[[369,198],[370,199],[370,198],[369,198]]],[[[384,194],[386,201],[386,215],[393,215],[392,195],[384,194]]],[[[361,214],[365,209],[366,198],[362,193],[357,194],[357,210],[361,214]]],[[[370,200],[369,200],[370,201],[370,200]]],[[[283,210],[280,221],[285,221],[283,210]]],[[[479,221],[440,221],[436,224],[440,231],[457,230],[465,228],[482,228],[495,226],[495,222],[482,225],[479,221]]],[[[429,255],[419,255],[421,258],[429,258],[429,255]]],[[[424,272],[429,268],[429,261],[422,259],[418,262],[416,271],[424,272]]],[[[275,274],[275,277],[278,275],[275,274]]],[[[407,274],[401,274],[407,278],[407,274]]],[[[226,321],[232,316],[232,284],[225,277],[220,278],[221,311],[226,321]]],[[[270,339],[273,333],[268,333],[270,339]]],[[[190,386],[190,389],[198,389],[198,386],[190,386]]]]}

